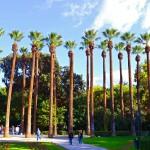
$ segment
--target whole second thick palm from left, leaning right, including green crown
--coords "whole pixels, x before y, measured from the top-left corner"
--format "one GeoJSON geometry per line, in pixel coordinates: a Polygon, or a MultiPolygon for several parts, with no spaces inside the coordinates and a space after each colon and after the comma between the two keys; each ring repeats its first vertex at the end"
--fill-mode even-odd
{"type": "Polygon", "coordinates": [[[40,42],[43,39],[43,36],[40,32],[30,32],[29,35],[30,40],[32,41],[32,71],[31,71],[31,79],[30,79],[30,90],[28,97],[28,117],[27,117],[27,129],[26,129],[26,137],[31,137],[31,109],[32,109],[32,94],[33,94],[33,83],[34,83],[34,72],[35,72],[35,54],[39,49],[40,42]]]}

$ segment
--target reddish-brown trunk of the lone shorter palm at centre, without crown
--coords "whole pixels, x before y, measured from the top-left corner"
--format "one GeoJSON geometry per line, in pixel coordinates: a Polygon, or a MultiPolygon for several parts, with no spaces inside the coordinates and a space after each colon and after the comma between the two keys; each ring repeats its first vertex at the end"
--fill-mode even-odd
{"type": "Polygon", "coordinates": [[[73,132],[73,52],[69,51],[70,58],[70,95],[69,95],[69,133],[73,132]]]}

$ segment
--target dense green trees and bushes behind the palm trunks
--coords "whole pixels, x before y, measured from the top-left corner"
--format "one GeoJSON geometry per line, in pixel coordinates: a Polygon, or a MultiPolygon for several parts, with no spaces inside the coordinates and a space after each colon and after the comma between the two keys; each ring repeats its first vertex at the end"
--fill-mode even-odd
{"type": "MultiPolygon", "coordinates": [[[[30,55],[28,54],[28,59],[26,61],[26,94],[25,94],[25,111],[27,111],[27,97],[29,92],[29,81],[30,81],[30,55]]],[[[3,62],[0,64],[1,71],[4,73],[3,82],[6,88],[0,88],[0,123],[5,122],[5,109],[6,109],[6,91],[9,85],[10,76],[10,63],[11,55],[3,58],[3,62]]],[[[42,131],[48,130],[48,113],[49,113],[49,55],[42,54],[40,57],[40,75],[39,75],[39,93],[38,93],[38,110],[37,110],[37,126],[40,127],[42,131]]],[[[22,67],[21,56],[18,55],[15,78],[13,86],[12,104],[11,104],[11,117],[10,124],[18,125],[21,123],[21,97],[22,97],[22,72],[20,71],[22,67]]],[[[57,126],[59,133],[60,130],[67,131],[68,125],[68,97],[69,97],[69,74],[68,67],[59,66],[56,62],[56,84],[57,84],[57,126]]],[[[142,111],[142,129],[150,129],[150,119],[147,114],[147,104],[148,104],[148,92],[146,89],[146,64],[141,64],[141,111],[142,111]]],[[[136,78],[135,78],[136,80],[136,78]]],[[[86,130],[86,91],[85,91],[85,81],[82,79],[81,75],[74,73],[74,130],[83,129],[86,130]]],[[[110,130],[110,118],[111,118],[111,100],[109,95],[109,89],[107,92],[107,111],[106,111],[106,122],[107,129],[110,130]]],[[[130,108],[129,108],[129,91],[128,85],[123,84],[123,94],[125,103],[125,118],[124,121],[121,117],[121,107],[120,107],[120,96],[119,96],[119,85],[114,87],[114,98],[115,98],[115,117],[116,117],[116,129],[117,130],[127,130],[130,129],[130,108]]],[[[136,106],[136,87],[133,86],[134,95],[134,109],[137,110],[136,106]]],[[[100,86],[94,87],[94,102],[95,102],[95,130],[103,130],[103,88],[100,86]]],[[[26,120],[25,113],[25,120],[26,120]]],[[[26,122],[25,122],[26,125],[26,122]]],[[[130,133],[130,132],[128,132],[130,133]]]]}

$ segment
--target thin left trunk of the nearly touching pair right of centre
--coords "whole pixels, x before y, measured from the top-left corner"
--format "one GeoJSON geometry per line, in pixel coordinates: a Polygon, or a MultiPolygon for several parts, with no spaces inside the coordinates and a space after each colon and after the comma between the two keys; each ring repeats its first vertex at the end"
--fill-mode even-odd
{"type": "Polygon", "coordinates": [[[90,89],[89,89],[89,56],[90,56],[90,51],[89,49],[86,50],[86,58],[87,58],[87,63],[86,63],[86,80],[87,80],[87,87],[86,87],[86,105],[87,105],[87,135],[90,135],[90,89]]]}

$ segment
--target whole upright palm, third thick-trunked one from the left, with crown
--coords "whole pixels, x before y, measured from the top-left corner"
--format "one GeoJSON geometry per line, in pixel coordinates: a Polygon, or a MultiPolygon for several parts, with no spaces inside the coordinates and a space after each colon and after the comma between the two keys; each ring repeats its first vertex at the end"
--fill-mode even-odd
{"type": "Polygon", "coordinates": [[[51,53],[50,56],[50,98],[49,98],[49,131],[48,137],[53,137],[53,92],[54,92],[54,70],[55,70],[55,49],[62,45],[62,37],[59,34],[51,33],[45,41],[51,53]]]}

